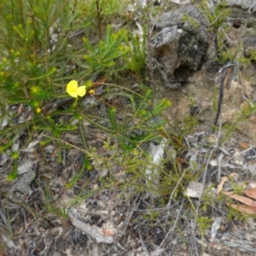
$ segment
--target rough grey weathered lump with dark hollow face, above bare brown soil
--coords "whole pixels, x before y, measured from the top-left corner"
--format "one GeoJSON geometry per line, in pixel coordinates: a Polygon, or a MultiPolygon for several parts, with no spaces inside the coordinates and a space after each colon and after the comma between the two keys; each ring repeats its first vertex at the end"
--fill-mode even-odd
{"type": "Polygon", "coordinates": [[[207,20],[199,9],[189,5],[166,13],[155,26],[163,28],[151,40],[153,60],[166,86],[177,88],[201,67],[209,45],[207,20]],[[183,21],[185,14],[189,14],[197,22],[190,24],[183,21]]]}

